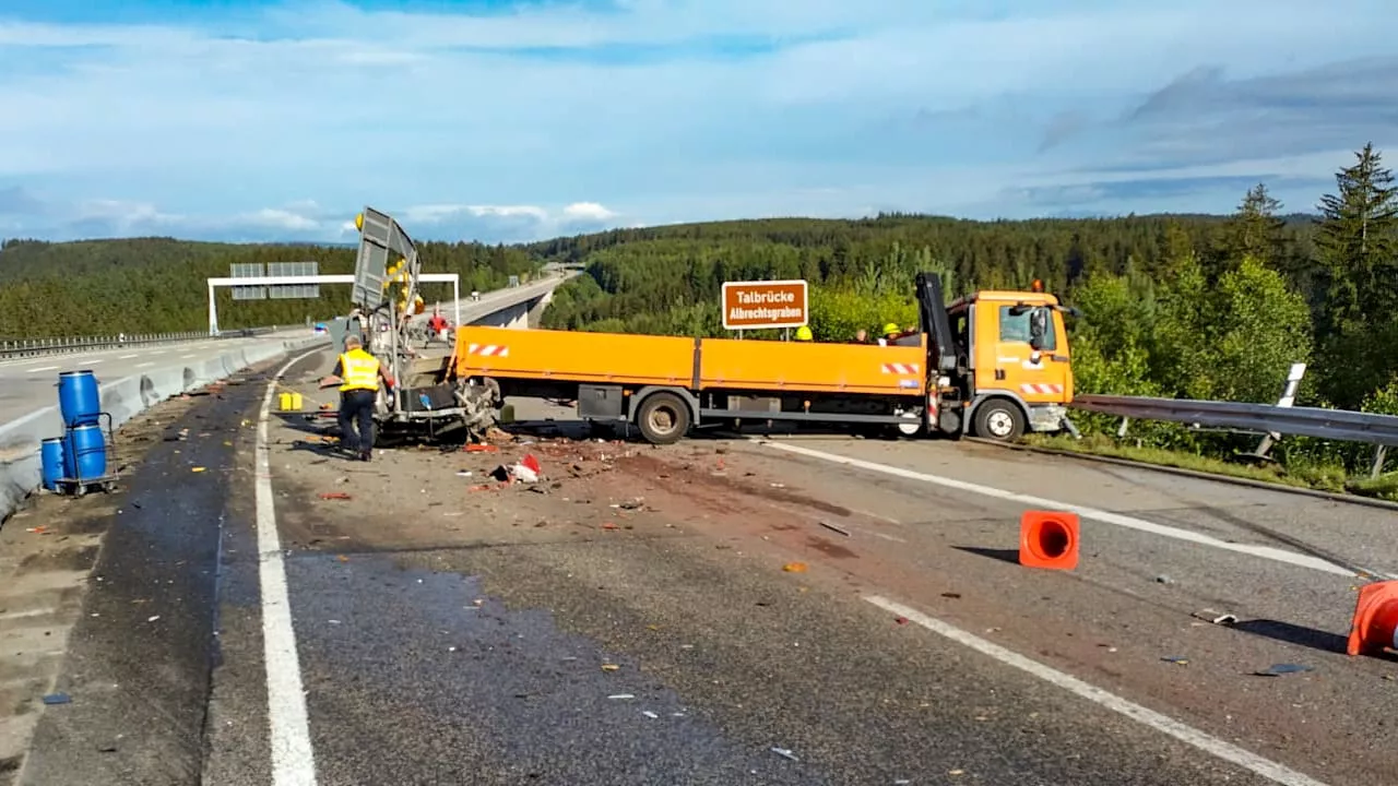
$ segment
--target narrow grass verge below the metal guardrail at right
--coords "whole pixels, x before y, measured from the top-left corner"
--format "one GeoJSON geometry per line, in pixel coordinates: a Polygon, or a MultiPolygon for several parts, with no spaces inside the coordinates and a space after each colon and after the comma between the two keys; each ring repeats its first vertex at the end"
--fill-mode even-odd
{"type": "Polygon", "coordinates": [[[1292,466],[1276,463],[1251,464],[1229,462],[1215,456],[1204,456],[1186,450],[1167,450],[1165,448],[1138,448],[1117,442],[1104,434],[1085,434],[1082,439],[1072,439],[1064,435],[1029,435],[1025,445],[1030,448],[1046,448],[1062,450],[1065,453],[1085,453],[1089,456],[1109,456],[1141,462],[1142,464],[1156,464],[1160,467],[1176,467],[1195,473],[1227,476],[1236,478],[1274,483],[1297,488],[1313,488],[1335,494],[1353,494],[1357,496],[1371,496],[1398,502],[1398,473],[1388,473],[1376,478],[1348,477],[1345,470],[1334,466],[1292,466]]]}

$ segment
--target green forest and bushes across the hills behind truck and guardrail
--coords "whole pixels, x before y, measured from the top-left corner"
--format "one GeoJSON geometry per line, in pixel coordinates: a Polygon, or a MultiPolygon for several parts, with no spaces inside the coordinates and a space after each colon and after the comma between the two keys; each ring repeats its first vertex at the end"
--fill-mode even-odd
{"type": "MultiPolygon", "coordinates": [[[[1366,145],[1338,169],[1334,192],[1318,199],[1318,215],[1283,213],[1286,206],[1260,183],[1227,217],[779,218],[617,229],[524,246],[424,243],[422,256],[428,270],[460,273],[463,291],[500,287],[507,276],[528,276],[548,262],[580,263],[586,276],[559,288],[545,327],[682,336],[723,333],[719,290],[730,280],[805,278],[816,338],[846,340],[858,329],[916,323],[918,271],[941,273],[948,296],[1026,288],[1037,278],[1083,312],[1069,324],[1079,393],[1272,403],[1290,364],[1306,362],[1297,406],[1398,414],[1392,172],[1366,145]]],[[[199,329],[206,277],[228,276],[231,263],[299,260],[350,273],[354,250],[10,241],[0,248],[0,337],[199,329]]],[[[236,303],[224,292],[219,315],[235,327],[347,309],[348,287],[323,292],[317,302],[236,303]]],[[[446,296],[446,287],[428,291],[429,301],[446,296]]],[[[1272,448],[1275,463],[1254,466],[1239,456],[1255,449],[1255,435],[1132,422],[1118,439],[1113,418],[1078,413],[1074,420],[1082,441],[1030,441],[1398,499],[1398,473],[1369,478],[1371,446],[1283,438],[1272,448]]],[[[1398,463],[1388,460],[1385,469],[1398,463]]]]}

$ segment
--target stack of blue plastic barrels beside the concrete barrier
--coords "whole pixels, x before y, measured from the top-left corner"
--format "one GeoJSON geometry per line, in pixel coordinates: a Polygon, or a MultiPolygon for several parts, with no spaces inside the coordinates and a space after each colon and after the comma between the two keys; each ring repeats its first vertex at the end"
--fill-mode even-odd
{"type": "Polygon", "coordinates": [[[102,392],[91,371],[59,375],[59,415],[63,436],[45,439],[41,446],[43,487],[57,491],[75,484],[80,490],[103,483],[106,436],[102,434],[102,392]]]}

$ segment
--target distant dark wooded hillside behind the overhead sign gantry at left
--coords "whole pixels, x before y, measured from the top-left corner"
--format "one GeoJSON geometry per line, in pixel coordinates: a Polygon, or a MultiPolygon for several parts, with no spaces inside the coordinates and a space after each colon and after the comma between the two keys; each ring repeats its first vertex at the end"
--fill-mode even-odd
{"type": "MultiPolygon", "coordinates": [[[[520,248],[481,243],[419,243],[428,270],[459,273],[461,290],[503,287],[541,262],[520,248]]],[[[233,245],[134,238],[0,245],[0,338],[173,333],[208,324],[206,278],[231,264],[317,262],[326,274],[354,273],[354,248],[233,245]]],[[[447,299],[450,285],[425,287],[447,299]]],[[[218,295],[219,326],[298,324],[348,310],[348,285],[323,285],[319,301],[233,301],[218,295]]]]}

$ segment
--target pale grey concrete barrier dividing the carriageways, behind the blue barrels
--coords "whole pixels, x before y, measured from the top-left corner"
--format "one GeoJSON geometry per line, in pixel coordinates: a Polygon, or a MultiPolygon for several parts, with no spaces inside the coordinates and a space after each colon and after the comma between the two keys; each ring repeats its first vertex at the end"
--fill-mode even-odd
{"type": "MultiPolygon", "coordinates": [[[[288,352],[329,344],[324,336],[294,338],[281,344],[259,344],[228,350],[217,358],[192,359],[136,373],[115,382],[99,382],[102,410],[110,413],[112,428],[138,415],[155,404],[225,379],[247,366],[288,352]]],[[[49,436],[63,435],[59,415],[59,392],[53,389],[53,404],[0,425],[0,526],[27,496],[39,488],[39,443],[49,436]]]]}

